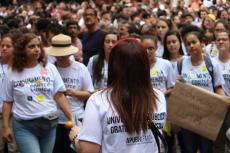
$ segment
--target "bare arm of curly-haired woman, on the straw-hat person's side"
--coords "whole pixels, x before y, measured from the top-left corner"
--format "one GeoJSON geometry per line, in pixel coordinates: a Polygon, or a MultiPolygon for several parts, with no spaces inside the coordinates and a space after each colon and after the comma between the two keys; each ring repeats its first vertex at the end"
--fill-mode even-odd
{"type": "Polygon", "coordinates": [[[72,121],[72,112],[69,107],[69,103],[64,95],[63,92],[57,92],[54,95],[54,100],[58,104],[58,106],[61,108],[61,110],[64,112],[65,116],[72,121]]]}

